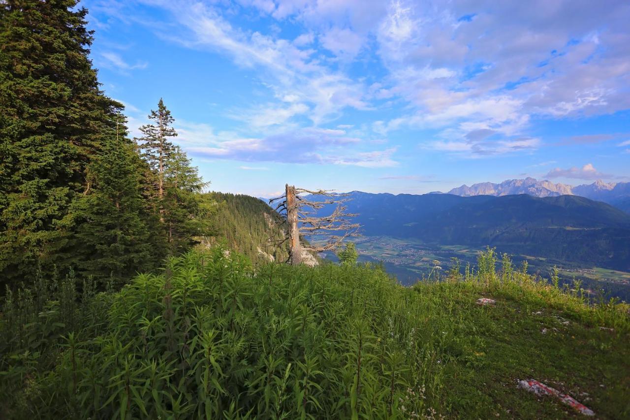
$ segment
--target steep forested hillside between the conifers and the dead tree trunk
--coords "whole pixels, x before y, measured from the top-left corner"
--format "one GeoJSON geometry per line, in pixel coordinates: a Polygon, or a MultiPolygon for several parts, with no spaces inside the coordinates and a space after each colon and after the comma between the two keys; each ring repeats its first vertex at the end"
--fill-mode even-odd
{"type": "Polygon", "coordinates": [[[208,194],[219,203],[210,221],[212,237],[207,242],[226,240],[229,248],[246,255],[258,265],[287,262],[289,252],[282,241],[285,221],[265,202],[243,194],[212,192],[208,194]]]}

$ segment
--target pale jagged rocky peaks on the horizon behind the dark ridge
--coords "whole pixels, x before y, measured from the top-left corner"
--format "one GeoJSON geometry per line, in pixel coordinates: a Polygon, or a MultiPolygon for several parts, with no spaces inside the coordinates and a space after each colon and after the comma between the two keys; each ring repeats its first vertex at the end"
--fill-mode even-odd
{"type": "Polygon", "coordinates": [[[454,188],[448,194],[471,197],[473,195],[501,195],[527,194],[534,197],[557,197],[559,195],[580,195],[595,201],[603,201],[630,213],[630,182],[603,182],[597,180],[593,184],[583,184],[573,187],[567,184],[554,184],[548,180],[535,178],[510,179],[494,184],[481,182],[454,188]]]}

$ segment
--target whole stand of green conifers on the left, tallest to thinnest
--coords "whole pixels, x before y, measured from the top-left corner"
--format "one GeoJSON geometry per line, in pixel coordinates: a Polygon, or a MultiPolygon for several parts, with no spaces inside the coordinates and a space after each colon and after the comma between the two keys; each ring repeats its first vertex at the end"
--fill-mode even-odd
{"type": "Polygon", "coordinates": [[[214,208],[159,100],[134,143],[74,0],[0,5],[0,283],[125,283],[195,245],[214,208]]]}

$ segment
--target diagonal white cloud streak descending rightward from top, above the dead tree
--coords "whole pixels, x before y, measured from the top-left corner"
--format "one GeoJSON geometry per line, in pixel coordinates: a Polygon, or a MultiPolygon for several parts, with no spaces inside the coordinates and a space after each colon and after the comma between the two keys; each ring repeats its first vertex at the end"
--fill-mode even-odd
{"type": "MultiPolygon", "coordinates": [[[[247,33],[231,25],[216,9],[202,3],[165,4],[188,32],[172,35],[172,39],[191,48],[210,48],[231,55],[234,62],[244,67],[256,67],[265,86],[277,98],[294,98],[302,102],[301,108],[292,108],[295,114],[306,115],[314,124],[335,119],[344,108],[367,109],[365,87],[338,71],[312,59],[312,50],[302,50],[307,37],[297,44],[260,32],[247,33]]],[[[338,52],[357,52],[355,40],[338,41],[329,46],[338,52]]],[[[263,106],[255,105],[254,112],[263,106]],[[258,108],[258,109],[257,109],[258,108]]],[[[263,119],[277,110],[276,104],[266,104],[263,119]]],[[[280,119],[278,119],[280,120],[280,119]]],[[[261,120],[254,120],[261,123],[261,120]]],[[[280,124],[280,123],[278,123],[280,124]]]]}

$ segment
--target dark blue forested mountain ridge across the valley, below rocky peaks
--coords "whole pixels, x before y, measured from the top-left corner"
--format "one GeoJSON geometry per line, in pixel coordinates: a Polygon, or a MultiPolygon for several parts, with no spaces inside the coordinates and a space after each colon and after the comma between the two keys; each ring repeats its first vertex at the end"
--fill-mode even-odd
{"type": "Polygon", "coordinates": [[[630,271],[630,214],[604,202],[576,195],[348,194],[348,211],[358,213],[355,221],[365,236],[490,245],[510,254],[630,271]]]}

